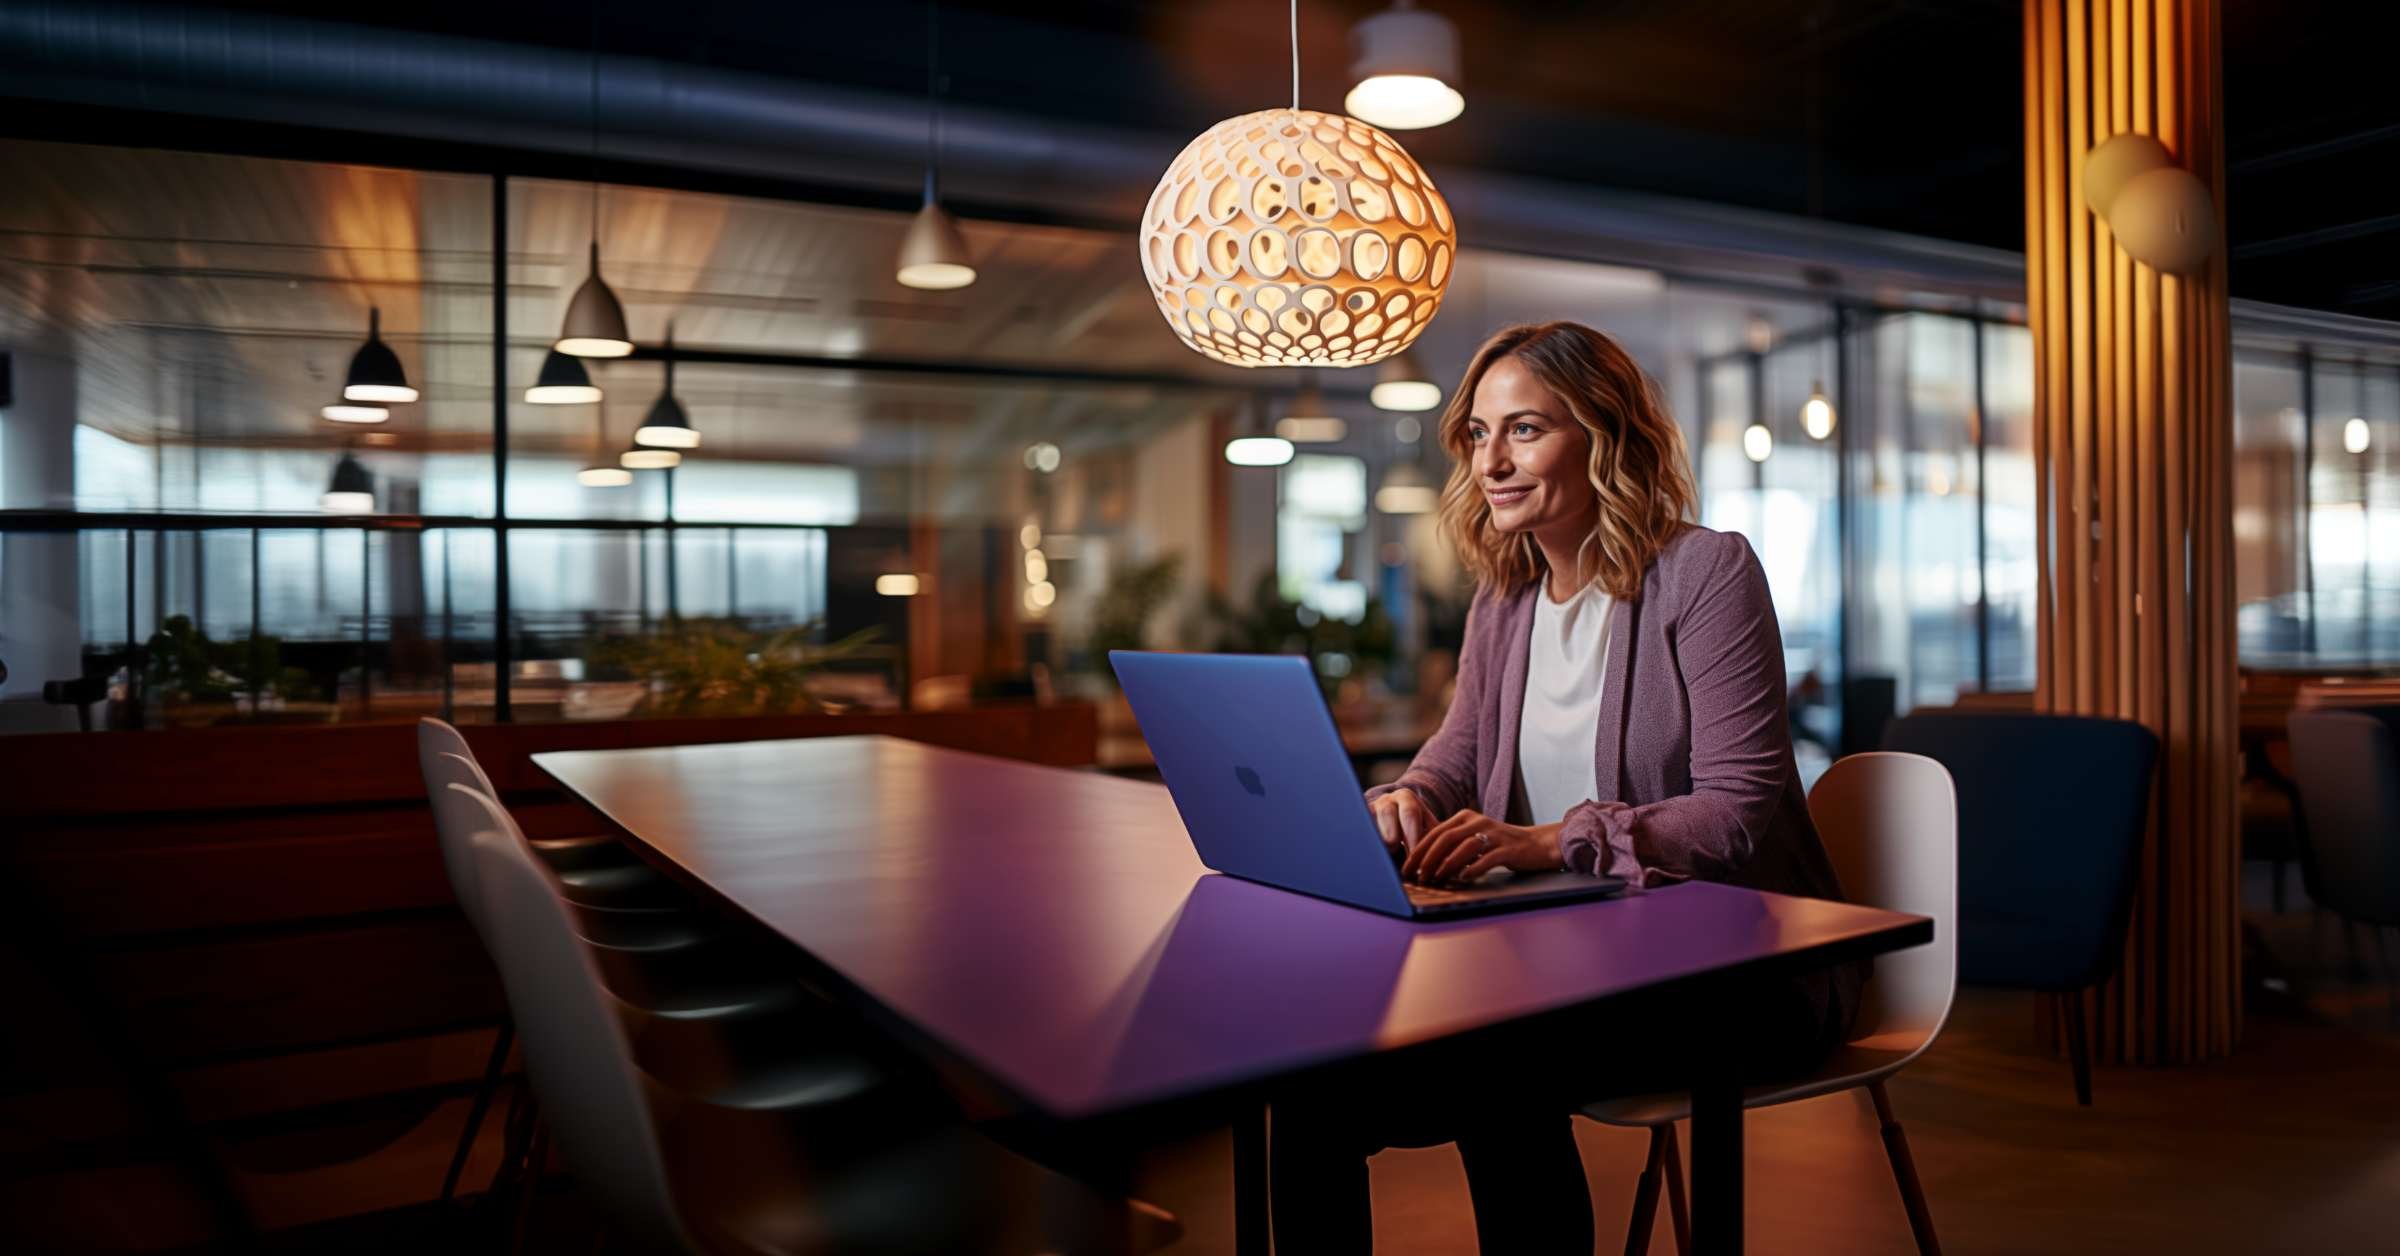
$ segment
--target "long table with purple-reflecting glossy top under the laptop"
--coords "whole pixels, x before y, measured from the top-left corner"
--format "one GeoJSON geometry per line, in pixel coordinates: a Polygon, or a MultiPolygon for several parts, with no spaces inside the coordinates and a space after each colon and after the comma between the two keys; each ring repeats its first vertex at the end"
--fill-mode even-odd
{"type": "MultiPolygon", "coordinates": [[[[1567,1009],[1723,1006],[1932,939],[1925,917],[1716,884],[1414,925],[1210,874],[1164,785],[890,737],[533,761],[982,1097],[1061,1129],[1231,1124],[1241,1251],[1267,1249],[1277,1085],[1567,1009]]],[[[1694,1246],[1740,1251],[1728,1061],[1694,1059],[1692,1095],[1694,1246]]]]}

